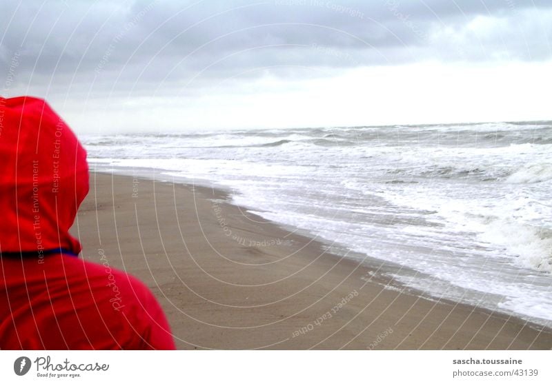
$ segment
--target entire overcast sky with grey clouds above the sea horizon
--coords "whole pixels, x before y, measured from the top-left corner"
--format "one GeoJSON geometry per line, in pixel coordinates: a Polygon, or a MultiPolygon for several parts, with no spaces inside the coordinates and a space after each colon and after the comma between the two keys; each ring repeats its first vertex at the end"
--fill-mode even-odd
{"type": "Polygon", "coordinates": [[[550,0],[1,0],[4,97],[77,132],[552,119],[550,0]]]}

